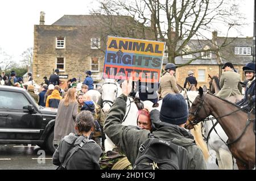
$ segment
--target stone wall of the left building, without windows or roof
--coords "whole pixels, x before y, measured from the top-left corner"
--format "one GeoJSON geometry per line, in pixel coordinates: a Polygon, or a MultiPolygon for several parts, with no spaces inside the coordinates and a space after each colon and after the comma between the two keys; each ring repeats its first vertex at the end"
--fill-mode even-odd
{"type": "MultiPolygon", "coordinates": [[[[64,58],[64,71],[60,75],[68,75],[67,79],[77,78],[82,82],[85,71],[90,70],[91,58],[99,58],[100,70],[104,66],[104,53],[98,49],[90,48],[90,39],[98,37],[93,27],[71,27],[71,26],[44,26],[34,27],[34,80],[43,82],[43,77],[49,75],[56,69],[56,58],[64,58]],[[64,37],[65,48],[56,48],[56,37],[64,37]]],[[[101,74],[100,71],[92,73],[101,74]]],[[[100,76],[97,76],[100,77],[100,76]]],[[[64,79],[67,81],[67,79],[64,79]]]]}

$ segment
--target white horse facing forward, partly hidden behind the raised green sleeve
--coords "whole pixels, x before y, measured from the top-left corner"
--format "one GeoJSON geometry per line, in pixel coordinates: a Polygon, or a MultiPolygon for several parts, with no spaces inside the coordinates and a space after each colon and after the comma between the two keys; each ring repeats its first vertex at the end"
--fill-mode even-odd
{"type": "MultiPolygon", "coordinates": [[[[104,79],[104,83],[102,84],[102,111],[107,113],[110,110],[110,107],[114,103],[114,100],[118,98],[119,95],[122,94],[122,89],[120,85],[114,79],[104,79]]],[[[133,99],[128,97],[126,102],[126,113],[125,117],[122,120],[123,125],[137,125],[137,115],[138,108],[136,104],[133,102],[133,99]]],[[[106,136],[105,140],[105,151],[112,150],[115,147],[113,142],[110,140],[108,136],[106,136]]]]}

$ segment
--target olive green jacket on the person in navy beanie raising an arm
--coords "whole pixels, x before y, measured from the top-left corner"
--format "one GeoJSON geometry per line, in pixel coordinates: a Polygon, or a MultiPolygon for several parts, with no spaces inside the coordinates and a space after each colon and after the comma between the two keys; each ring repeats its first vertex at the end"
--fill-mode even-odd
{"type": "MultiPolygon", "coordinates": [[[[150,131],[133,129],[121,124],[126,112],[126,100],[127,96],[123,94],[115,100],[106,116],[104,131],[134,165],[139,146],[150,137],[150,131]]],[[[183,128],[168,123],[157,122],[154,125],[156,128],[152,132],[154,137],[172,141],[188,150],[188,169],[206,169],[203,153],[196,146],[191,134],[183,128]]]]}

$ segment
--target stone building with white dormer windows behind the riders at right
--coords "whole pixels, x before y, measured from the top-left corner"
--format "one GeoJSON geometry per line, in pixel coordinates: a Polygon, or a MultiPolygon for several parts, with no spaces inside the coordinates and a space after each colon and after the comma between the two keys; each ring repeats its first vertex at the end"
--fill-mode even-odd
{"type": "MultiPolygon", "coordinates": [[[[181,44],[182,41],[179,42],[181,44]]],[[[214,52],[200,52],[196,54],[188,54],[175,58],[175,64],[181,66],[186,64],[189,60],[195,57],[189,65],[182,66],[176,70],[176,80],[179,85],[183,86],[185,77],[188,76],[188,71],[192,70],[194,76],[197,78],[197,87],[209,87],[208,74],[210,76],[218,75],[221,77],[222,65],[226,62],[232,62],[234,68],[241,74],[241,80],[245,79],[242,67],[248,62],[253,61],[252,37],[218,37],[217,32],[213,32],[212,40],[190,40],[185,47],[191,52],[197,49],[210,49],[213,46],[221,47],[217,53],[214,52]]],[[[164,58],[164,64],[167,64],[167,56],[164,58]]],[[[164,65],[163,65],[164,66],[164,65]]]]}

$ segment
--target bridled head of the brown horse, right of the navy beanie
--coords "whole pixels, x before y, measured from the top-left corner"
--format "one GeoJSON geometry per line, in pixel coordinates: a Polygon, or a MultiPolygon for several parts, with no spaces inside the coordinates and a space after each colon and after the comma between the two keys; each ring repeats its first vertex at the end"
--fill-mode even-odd
{"type": "Polygon", "coordinates": [[[192,129],[194,125],[200,123],[205,117],[210,115],[210,110],[205,107],[204,102],[206,94],[207,92],[205,92],[202,87],[199,87],[199,95],[196,96],[189,108],[188,120],[185,125],[186,129],[192,129]]]}

